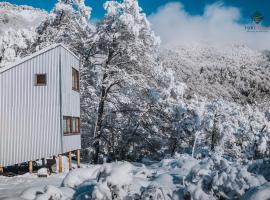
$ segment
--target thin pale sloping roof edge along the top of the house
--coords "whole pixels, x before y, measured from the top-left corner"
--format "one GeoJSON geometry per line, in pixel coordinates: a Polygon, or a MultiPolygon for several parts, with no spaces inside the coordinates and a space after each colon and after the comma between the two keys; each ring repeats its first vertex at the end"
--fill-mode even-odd
{"type": "Polygon", "coordinates": [[[7,71],[7,70],[9,70],[9,69],[11,69],[11,68],[13,68],[13,67],[16,67],[16,66],[18,66],[18,65],[20,65],[20,64],[22,64],[22,63],[24,63],[24,62],[26,62],[26,61],[28,61],[28,60],[34,58],[34,57],[36,57],[36,56],[38,56],[38,55],[41,55],[41,54],[43,54],[43,53],[45,53],[45,52],[47,52],[47,51],[50,51],[50,50],[52,50],[52,49],[54,49],[54,48],[56,48],[56,47],[59,47],[59,46],[61,46],[61,47],[63,47],[64,49],[66,49],[66,50],[67,50],[69,53],[71,53],[76,59],[79,60],[79,57],[76,56],[72,51],[70,51],[65,45],[63,45],[63,44],[61,44],[61,43],[59,43],[59,44],[52,44],[52,45],[50,45],[50,46],[48,46],[48,47],[46,47],[46,48],[44,48],[44,49],[41,49],[40,51],[37,51],[37,52],[35,52],[35,53],[33,53],[33,54],[29,55],[29,56],[26,56],[26,57],[24,57],[24,58],[22,58],[22,59],[20,59],[20,60],[18,60],[18,61],[16,61],[16,62],[14,62],[14,63],[12,63],[12,64],[9,64],[9,65],[7,65],[7,66],[5,66],[5,67],[0,68],[0,73],[3,73],[3,72],[5,72],[5,71],[7,71]]]}

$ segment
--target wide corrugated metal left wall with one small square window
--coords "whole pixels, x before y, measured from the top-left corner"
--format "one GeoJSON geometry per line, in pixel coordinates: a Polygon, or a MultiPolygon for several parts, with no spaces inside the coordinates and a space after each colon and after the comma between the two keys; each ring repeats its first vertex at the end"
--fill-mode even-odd
{"type": "Polygon", "coordinates": [[[61,49],[58,46],[0,73],[0,165],[13,165],[62,152],[61,49]],[[38,73],[47,74],[47,86],[35,86],[35,74],[38,73]]]}

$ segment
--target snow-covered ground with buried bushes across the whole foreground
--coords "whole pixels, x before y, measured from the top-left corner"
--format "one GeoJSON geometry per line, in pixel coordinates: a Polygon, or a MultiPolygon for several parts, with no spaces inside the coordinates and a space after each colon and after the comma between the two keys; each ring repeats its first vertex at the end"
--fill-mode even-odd
{"type": "MultiPolygon", "coordinates": [[[[270,183],[249,165],[213,155],[176,155],[160,162],[83,166],[68,174],[0,178],[0,199],[211,200],[270,199],[270,183]]],[[[254,169],[254,166],[253,166],[254,169]]]]}

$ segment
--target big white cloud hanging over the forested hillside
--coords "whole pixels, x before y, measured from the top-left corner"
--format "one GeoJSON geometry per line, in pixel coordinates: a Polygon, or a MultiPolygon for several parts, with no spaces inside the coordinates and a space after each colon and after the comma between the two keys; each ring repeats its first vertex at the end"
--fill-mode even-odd
{"type": "Polygon", "coordinates": [[[244,44],[256,49],[270,49],[268,32],[247,32],[240,24],[238,8],[221,3],[205,7],[203,15],[189,15],[181,3],[168,3],[149,16],[152,27],[165,46],[244,44]]]}

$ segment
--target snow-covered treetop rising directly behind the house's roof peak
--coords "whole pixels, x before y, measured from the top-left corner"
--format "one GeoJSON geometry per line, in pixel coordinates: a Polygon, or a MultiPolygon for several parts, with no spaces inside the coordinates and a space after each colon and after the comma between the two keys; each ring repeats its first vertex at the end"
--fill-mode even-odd
{"type": "Polygon", "coordinates": [[[58,0],[49,16],[37,27],[31,51],[53,43],[63,43],[77,55],[85,54],[85,45],[94,27],[89,19],[91,8],[84,0],[58,0]]]}

